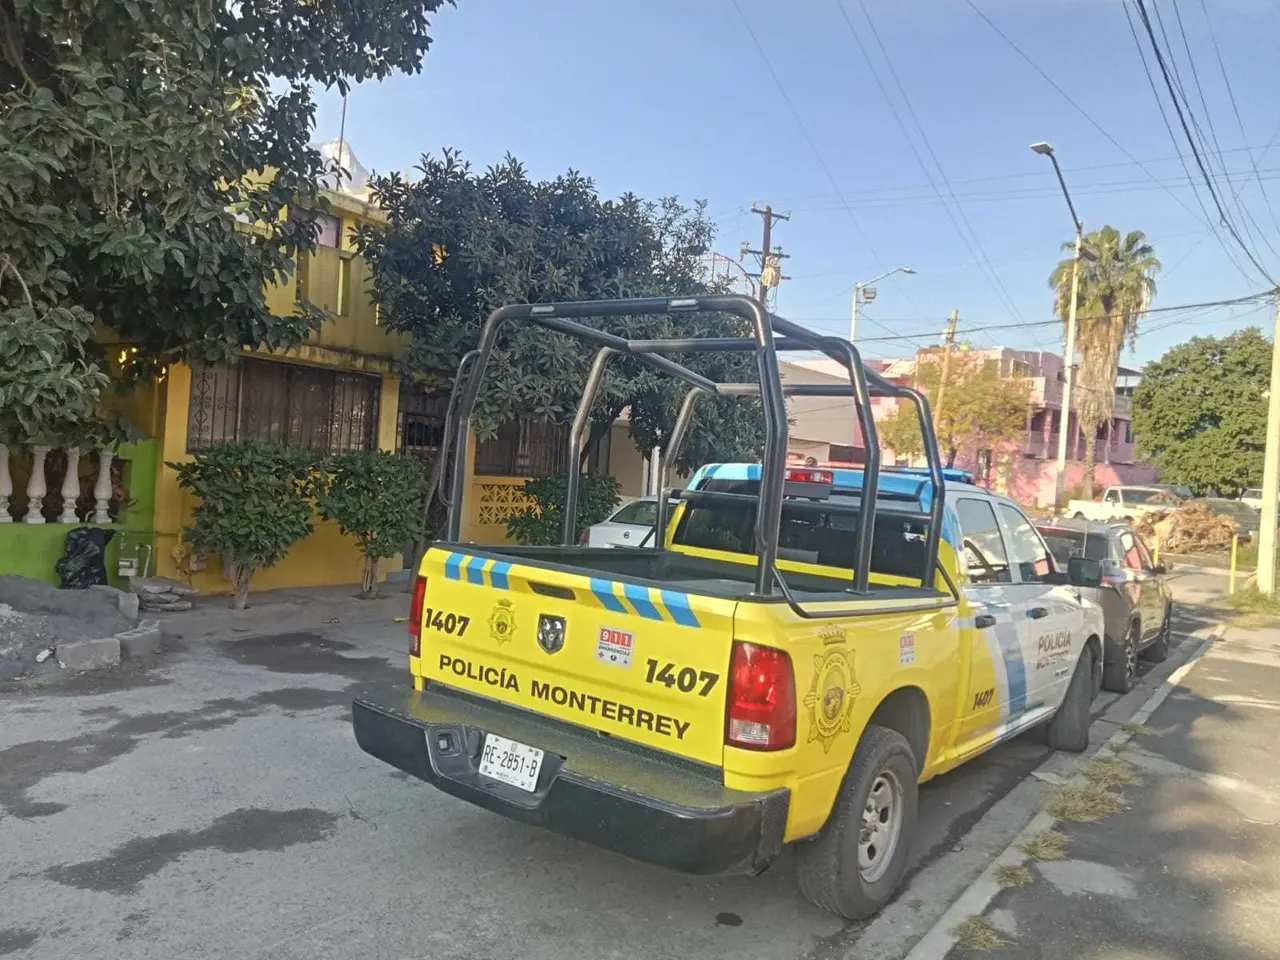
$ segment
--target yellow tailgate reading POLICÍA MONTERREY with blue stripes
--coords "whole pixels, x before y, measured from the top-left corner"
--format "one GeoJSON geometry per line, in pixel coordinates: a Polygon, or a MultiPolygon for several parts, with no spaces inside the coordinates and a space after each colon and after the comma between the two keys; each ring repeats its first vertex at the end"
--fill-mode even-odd
{"type": "Polygon", "coordinates": [[[433,548],[415,676],[719,765],[731,599],[433,548]]]}

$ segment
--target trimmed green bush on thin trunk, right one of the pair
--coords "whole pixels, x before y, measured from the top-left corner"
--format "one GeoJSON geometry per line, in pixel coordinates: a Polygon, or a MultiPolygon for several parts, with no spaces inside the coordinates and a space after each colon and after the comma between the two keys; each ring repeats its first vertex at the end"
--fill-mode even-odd
{"type": "Polygon", "coordinates": [[[329,457],[316,484],[320,516],[334,521],[365,554],[362,589],[378,589],[378,561],[394,557],[422,534],[426,479],[422,463],[385,451],[357,451],[329,457]]]}

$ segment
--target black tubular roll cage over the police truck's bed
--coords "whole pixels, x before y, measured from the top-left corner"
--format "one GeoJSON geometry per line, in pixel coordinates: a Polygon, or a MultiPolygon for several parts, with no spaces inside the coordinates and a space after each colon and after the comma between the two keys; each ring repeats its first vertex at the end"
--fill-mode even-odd
{"type": "MultiPolygon", "coordinates": [[[[933,497],[929,511],[929,530],[924,550],[924,563],[920,570],[920,585],[929,588],[937,567],[938,541],[942,536],[942,508],[946,484],[942,475],[942,460],[938,453],[937,438],[933,433],[933,419],[929,415],[929,402],[919,392],[900,387],[873,370],[868,370],[858,348],[846,339],[814,333],[799,324],[783,320],[765,311],[756,301],[741,294],[714,294],[705,297],[645,297],[634,300],[572,301],[566,303],[513,303],[494,310],[485,320],[480,343],[471,351],[458,367],[458,380],[454,384],[449,411],[445,415],[445,443],[452,435],[460,456],[453,460],[453,476],[448,497],[449,518],[445,539],[457,541],[462,529],[462,502],[466,485],[467,465],[461,456],[467,449],[467,431],[475,412],[485,369],[498,340],[503,324],[517,320],[536,324],[548,330],[570,334],[599,347],[591,364],[582,398],[573,417],[568,439],[568,463],[566,466],[564,502],[564,544],[573,544],[577,517],[577,488],[582,439],[591,415],[591,404],[604,381],[609,360],[617,353],[626,353],[643,364],[666,372],[689,384],[672,428],[666,449],[660,453],[658,465],[658,522],[657,531],[667,527],[667,481],[671,466],[676,462],[685,435],[692,422],[698,399],[704,394],[719,397],[759,396],[764,407],[764,453],[760,465],[759,508],[755,517],[755,543],[759,567],[755,576],[755,594],[771,596],[774,585],[778,586],[788,605],[801,616],[829,617],[841,616],[842,611],[808,613],[795,603],[782,572],[777,567],[778,527],[782,521],[783,484],[787,468],[787,408],[786,397],[850,397],[854,412],[865,444],[865,463],[863,468],[863,509],[858,517],[855,567],[852,593],[865,594],[869,589],[872,530],[876,522],[876,497],[879,489],[881,451],[872,417],[872,397],[897,397],[910,401],[920,422],[924,438],[924,453],[928,460],[929,481],[933,497]],[[628,340],[617,334],[599,330],[577,323],[580,317],[609,316],[673,316],[681,314],[731,314],[745,320],[753,332],[750,338],[701,337],[669,338],[659,340],[628,340]],[[689,367],[677,364],[668,353],[727,353],[754,352],[759,383],[716,383],[689,367]],[[840,364],[849,375],[847,384],[783,384],[778,371],[780,351],[818,351],[840,364]],[[467,362],[470,361],[470,362],[467,362]],[[467,369],[470,367],[470,369],[467,369]],[[461,393],[458,388],[461,387],[461,393]],[[456,401],[456,402],[454,402],[456,401]]],[[[443,453],[443,452],[442,452],[443,453]]],[[[443,456],[442,456],[443,461],[443,456]]],[[[664,534],[658,536],[664,540],[664,534]]],[[[663,543],[655,544],[663,549],[663,543]]],[[[945,571],[943,571],[945,573],[945,571]]]]}

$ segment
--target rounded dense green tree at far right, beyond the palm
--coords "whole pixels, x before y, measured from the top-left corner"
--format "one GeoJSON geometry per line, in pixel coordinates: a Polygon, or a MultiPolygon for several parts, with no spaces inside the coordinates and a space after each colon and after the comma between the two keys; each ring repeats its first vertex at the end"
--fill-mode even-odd
{"type": "Polygon", "coordinates": [[[1271,340],[1257,328],[1197,337],[1147,364],[1134,439],[1162,479],[1235,495],[1262,481],[1271,340]]]}

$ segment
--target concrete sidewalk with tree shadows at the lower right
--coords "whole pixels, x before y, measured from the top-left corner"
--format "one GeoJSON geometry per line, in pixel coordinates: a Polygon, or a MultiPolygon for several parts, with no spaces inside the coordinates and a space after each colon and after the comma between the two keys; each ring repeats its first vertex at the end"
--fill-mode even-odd
{"type": "Polygon", "coordinates": [[[1050,797],[1057,822],[1000,858],[1006,888],[950,918],[966,936],[947,960],[1280,957],[1280,630],[1229,628],[1152,700],[1083,768],[1092,792],[1050,797]]]}

